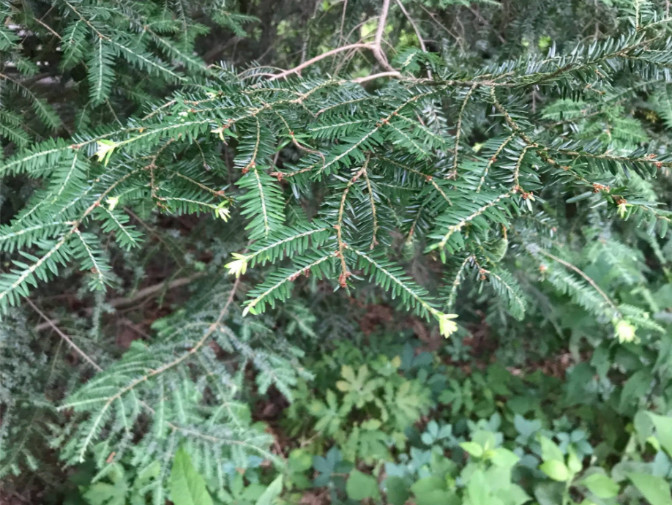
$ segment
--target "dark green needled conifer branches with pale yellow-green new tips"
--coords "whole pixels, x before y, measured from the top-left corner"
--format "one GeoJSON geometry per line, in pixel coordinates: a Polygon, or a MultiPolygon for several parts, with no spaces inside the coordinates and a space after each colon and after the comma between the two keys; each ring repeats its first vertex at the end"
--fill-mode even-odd
{"type": "Polygon", "coordinates": [[[304,3],[0,2],[0,477],[33,438],[164,484],[178,447],[220,488],[278,462],[250,398],[291,400],[312,324],[371,300],[446,338],[562,300],[572,338],[666,345],[664,2],[304,3]]]}

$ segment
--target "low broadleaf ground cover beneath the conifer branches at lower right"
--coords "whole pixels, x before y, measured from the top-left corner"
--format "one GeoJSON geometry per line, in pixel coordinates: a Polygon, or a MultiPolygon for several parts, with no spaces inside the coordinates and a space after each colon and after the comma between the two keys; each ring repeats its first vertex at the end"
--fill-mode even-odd
{"type": "MultiPolygon", "coordinates": [[[[388,344],[388,354],[377,356],[362,356],[350,344],[343,347],[337,356],[349,364],[362,358],[392,368],[401,363],[393,372],[399,380],[411,383],[418,380],[414,377],[424,378],[432,384],[428,387],[434,391],[434,401],[446,401],[453,408],[436,409],[430,421],[416,422],[396,434],[381,422],[382,411],[360,416],[362,424],[377,426],[374,430],[389,448],[387,458],[354,454],[347,438],[338,432],[330,435],[319,422],[309,423],[303,436],[297,437],[301,448],[294,449],[288,459],[287,503],[300,496],[293,497],[292,492],[313,486],[326,486],[331,503],[356,503],[364,498],[393,504],[411,499],[418,504],[534,501],[541,505],[639,503],[641,496],[652,503],[670,500],[672,452],[667,444],[672,420],[646,410],[634,416],[623,414],[618,402],[610,405],[609,397],[627,394],[625,385],[613,388],[603,403],[586,409],[572,398],[572,376],[580,373],[580,365],[569,372],[566,382],[541,372],[521,378],[491,365],[485,374],[476,374],[480,378],[474,385],[457,382],[458,392],[444,389],[446,377],[459,378],[460,372],[453,365],[441,364],[440,356],[417,354],[408,345],[400,349],[398,344],[388,344]],[[346,354],[342,354],[343,347],[346,354]],[[389,354],[395,349],[401,353],[389,354]],[[457,394],[477,399],[481,408],[464,411],[459,403],[455,406],[457,394]],[[629,426],[629,436],[625,426],[629,426]],[[600,442],[593,445],[593,440],[600,442]]],[[[331,358],[321,360],[314,369],[323,370],[326,377],[331,358]]],[[[320,384],[321,378],[318,373],[315,383],[320,384]]],[[[310,410],[316,394],[321,394],[319,389],[307,398],[297,395],[286,422],[295,426],[299,422],[296,412],[310,410]]],[[[341,412],[339,418],[345,422],[348,415],[341,412]]],[[[353,434],[359,428],[345,424],[344,429],[353,434]]]]}

